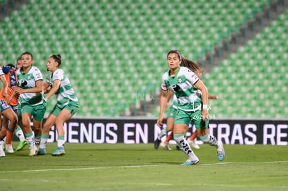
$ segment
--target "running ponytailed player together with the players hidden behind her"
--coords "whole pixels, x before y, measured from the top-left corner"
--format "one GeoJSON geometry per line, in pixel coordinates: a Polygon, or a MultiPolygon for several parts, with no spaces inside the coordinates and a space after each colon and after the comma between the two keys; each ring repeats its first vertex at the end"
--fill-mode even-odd
{"type": "Polygon", "coordinates": [[[168,112],[167,126],[162,128],[154,141],[154,148],[158,149],[161,145],[171,150],[168,142],[174,138],[177,148],[189,157],[182,165],[195,165],[199,163],[199,158],[195,156],[191,146],[195,149],[200,148],[195,143],[195,138],[198,137],[203,143],[216,147],[218,160],[224,160],[223,143],[209,134],[208,99],[217,99],[217,97],[209,95],[205,84],[200,80],[202,67],[184,58],[177,50],[168,52],[167,64],[169,69],[162,75],[158,126],[163,124],[163,113],[171,97],[173,103],[168,112]],[[186,132],[191,122],[195,125],[196,131],[186,140],[186,132]],[[171,133],[168,135],[169,131],[171,133]],[[166,140],[161,142],[161,138],[165,135],[168,135],[166,140]]]}

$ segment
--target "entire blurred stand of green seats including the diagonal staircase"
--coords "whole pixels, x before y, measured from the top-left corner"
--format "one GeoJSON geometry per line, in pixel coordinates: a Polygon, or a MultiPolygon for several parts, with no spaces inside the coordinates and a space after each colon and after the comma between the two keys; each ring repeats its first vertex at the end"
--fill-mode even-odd
{"type": "MultiPolygon", "coordinates": [[[[205,67],[210,115],[287,118],[286,0],[0,0],[0,60],[49,56],[79,97],[76,117],[158,117],[166,54],[205,67]]],[[[56,103],[51,99],[47,113],[56,103]]]]}

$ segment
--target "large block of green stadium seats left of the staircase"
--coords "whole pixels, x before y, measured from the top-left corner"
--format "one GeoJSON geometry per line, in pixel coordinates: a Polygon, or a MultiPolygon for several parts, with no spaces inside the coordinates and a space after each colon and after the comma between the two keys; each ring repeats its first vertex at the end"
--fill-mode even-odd
{"type": "MultiPolygon", "coordinates": [[[[45,72],[47,57],[61,53],[62,67],[80,100],[77,116],[111,115],[107,110],[122,102],[128,110],[135,92],[159,84],[170,49],[192,58],[203,46],[216,44],[229,26],[243,24],[253,8],[268,2],[33,0],[1,22],[0,46],[8,48],[0,58],[16,60],[23,51],[31,51],[35,65],[45,72]]],[[[225,98],[228,105],[230,97],[225,98]]],[[[222,116],[227,113],[223,110],[222,116]]]]}

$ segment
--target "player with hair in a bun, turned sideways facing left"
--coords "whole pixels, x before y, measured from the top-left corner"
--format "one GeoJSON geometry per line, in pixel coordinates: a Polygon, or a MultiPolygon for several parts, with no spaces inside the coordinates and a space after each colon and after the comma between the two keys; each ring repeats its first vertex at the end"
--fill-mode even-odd
{"type": "Polygon", "coordinates": [[[78,99],[70,80],[67,78],[63,69],[59,68],[60,66],[61,56],[59,54],[48,58],[47,70],[51,72],[51,75],[47,78],[47,81],[44,84],[44,90],[47,92],[45,98],[48,100],[55,94],[57,103],[43,126],[38,155],[45,155],[49,131],[54,125],[56,125],[58,134],[58,146],[56,151],[52,153],[52,156],[62,156],[65,154],[65,131],[63,123],[67,122],[67,120],[70,119],[79,109],[78,99]]]}

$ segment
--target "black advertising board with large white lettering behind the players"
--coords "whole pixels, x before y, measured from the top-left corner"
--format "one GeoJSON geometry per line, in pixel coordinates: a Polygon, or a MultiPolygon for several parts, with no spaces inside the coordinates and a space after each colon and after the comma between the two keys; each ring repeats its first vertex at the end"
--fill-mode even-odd
{"type": "MultiPolygon", "coordinates": [[[[65,141],[70,143],[152,143],[161,128],[157,119],[125,118],[72,118],[64,124],[65,141]]],[[[164,121],[163,126],[166,126],[164,121]]],[[[32,124],[31,124],[32,125],[32,124]]],[[[190,125],[187,136],[195,131],[190,125]]],[[[288,145],[288,119],[211,119],[209,132],[224,144],[288,145]]],[[[50,131],[48,142],[56,142],[56,128],[50,131]]],[[[163,138],[163,140],[166,137],[163,138]]],[[[202,142],[197,140],[198,144],[202,142]]],[[[175,144],[173,140],[170,144],[175,144]]]]}

